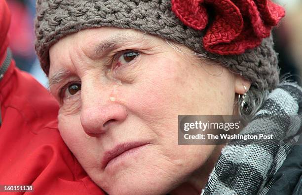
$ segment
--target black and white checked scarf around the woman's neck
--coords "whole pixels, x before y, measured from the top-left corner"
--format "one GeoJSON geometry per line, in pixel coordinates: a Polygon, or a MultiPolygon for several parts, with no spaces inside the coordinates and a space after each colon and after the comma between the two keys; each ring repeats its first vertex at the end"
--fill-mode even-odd
{"type": "Polygon", "coordinates": [[[232,140],[222,150],[201,195],[265,195],[302,131],[302,88],[273,90],[240,134],[273,134],[265,141],[232,140]]]}

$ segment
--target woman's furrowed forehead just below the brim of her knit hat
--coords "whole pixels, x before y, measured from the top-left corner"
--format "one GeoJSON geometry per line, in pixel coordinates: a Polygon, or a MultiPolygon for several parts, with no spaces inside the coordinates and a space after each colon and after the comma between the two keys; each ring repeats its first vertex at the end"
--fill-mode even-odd
{"type": "Polygon", "coordinates": [[[150,45],[163,42],[164,40],[160,37],[133,29],[101,27],[82,30],[67,35],[51,46],[48,76],[51,80],[53,74],[65,74],[67,70],[63,66],[73,63],[69,58],[73,55],[85,55],[91,60],[98,60],[118,48],[122,49],[131,45],[134,49],[142,44],[150,45]]]}

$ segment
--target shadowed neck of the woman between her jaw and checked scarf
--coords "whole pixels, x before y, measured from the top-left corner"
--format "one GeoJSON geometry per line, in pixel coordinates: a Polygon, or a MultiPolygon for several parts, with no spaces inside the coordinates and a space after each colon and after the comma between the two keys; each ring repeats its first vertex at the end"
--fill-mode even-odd
{"type": "Polygon", "coordinates": [[[208,182],[210,173],[221,154],[225,145],[217,145],[209,159],[199,169],[194,171],[186,182],[172,190],[170,195],[200,195],[208,182]]]}

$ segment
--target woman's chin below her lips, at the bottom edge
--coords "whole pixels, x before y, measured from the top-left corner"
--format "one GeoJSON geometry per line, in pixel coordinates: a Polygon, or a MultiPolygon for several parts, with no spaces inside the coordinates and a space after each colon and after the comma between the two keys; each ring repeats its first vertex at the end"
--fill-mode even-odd
{"type": "Polygon", "coordinates": [[[120,169],[115,175],[104,174],[106,178],[96,183],[109,195],[164,195],[180,181],[176,175],[170,175],[171,170],[164,170],[167,169],[154,164],[132,166],[120,169]]]}

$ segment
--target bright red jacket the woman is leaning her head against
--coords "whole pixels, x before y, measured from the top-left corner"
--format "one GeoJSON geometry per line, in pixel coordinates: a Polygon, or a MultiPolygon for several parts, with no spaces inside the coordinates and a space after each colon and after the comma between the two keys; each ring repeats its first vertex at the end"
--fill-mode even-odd
{"type": "MultiPolygon", "coordinates": [[[[8,26],[9,11],[0,0],[0,65],[8,26]]],[[[56,100],[13,61],[0,80],[0,104],[0,185],[33,185],[29,195],[104,194],[63,142],[56,100]]]]}

